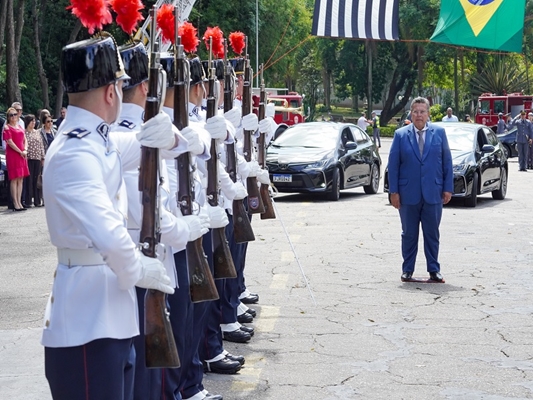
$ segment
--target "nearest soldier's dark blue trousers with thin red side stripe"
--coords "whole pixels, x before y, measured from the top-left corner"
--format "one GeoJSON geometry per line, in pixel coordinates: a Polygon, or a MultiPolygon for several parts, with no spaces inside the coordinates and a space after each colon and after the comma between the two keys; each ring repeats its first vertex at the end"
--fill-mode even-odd
{"type": "Polygon", "coordinates": [[[98,339],[82,346],[45,347],[44,369],[54,400],[131,400],[132,339],[98,339]]]}

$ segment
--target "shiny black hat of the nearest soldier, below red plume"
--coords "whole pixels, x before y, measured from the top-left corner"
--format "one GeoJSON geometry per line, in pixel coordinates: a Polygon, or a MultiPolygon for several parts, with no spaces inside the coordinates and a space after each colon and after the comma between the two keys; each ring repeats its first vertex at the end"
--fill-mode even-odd
{"type": "Polygon", "coordinates": [[[129,79],[115,39],[107,32],[63,47],[61,71],[67,93],[86,92],[129,79]]]}

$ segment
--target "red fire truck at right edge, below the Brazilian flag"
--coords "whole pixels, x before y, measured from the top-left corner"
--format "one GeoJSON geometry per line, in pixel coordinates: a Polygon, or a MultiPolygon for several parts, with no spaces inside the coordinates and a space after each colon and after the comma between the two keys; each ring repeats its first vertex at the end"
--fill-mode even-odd
{"type": "Polygon", "coordinates": [[[514,117],[521,110],[531,111],[533,96],[523,93],[511,93],[497,96],[492,93],[483,93],[478,98],[476,110],[476,122],[487,126],[498,123],[498,114],[511,115],[514,117]]]}

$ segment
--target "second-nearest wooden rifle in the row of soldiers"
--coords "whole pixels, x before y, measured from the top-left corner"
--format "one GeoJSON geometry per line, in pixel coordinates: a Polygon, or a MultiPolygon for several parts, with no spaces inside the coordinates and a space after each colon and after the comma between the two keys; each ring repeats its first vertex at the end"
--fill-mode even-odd
{"type": "MultiPolygon", "coordinates": [[[[176,16],[176,21],[178,17],[176,16]]],[[[177,22],[176,22],[177,23],[177,22]]],[[[178,28],[176,27],[176,33],[178,28]]],[[[174,125],[183,129],[189,125],[189,64],[185,59],[183,46],[178,37],[174,54],[174,125]]],[[[188,152],[176,158],[178,170],[177,201],[181,213],[192,215],[194,202],[194,179],[191,171],[191,156],[188,152]]],[[[191,301],[217,300],[218,292],[215,281],[211,275],[207,256],[202,247],[202,238],[188,242],[186,247],[187,268],[189,270],[189,286],[191,301]]]]}

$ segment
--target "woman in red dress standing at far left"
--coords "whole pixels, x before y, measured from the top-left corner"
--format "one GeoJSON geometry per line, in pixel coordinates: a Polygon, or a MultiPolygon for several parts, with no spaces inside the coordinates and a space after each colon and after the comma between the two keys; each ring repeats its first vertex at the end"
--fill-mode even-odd
{"type": "Polygon", "coordinates": [[[30,174],[28,169],[28,144],[24,129],[18,124],[18,113],[13,107],[7,110],[7,123],[4,126],[6,141],[7,173],[10,180],[11,197],[15,211],[25,211],[22,206],[22,182],[30,174]]]}

